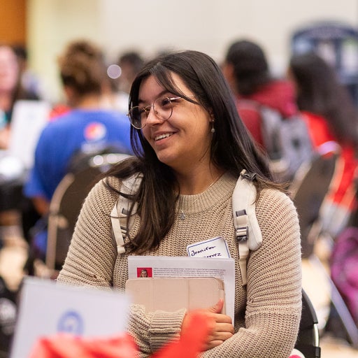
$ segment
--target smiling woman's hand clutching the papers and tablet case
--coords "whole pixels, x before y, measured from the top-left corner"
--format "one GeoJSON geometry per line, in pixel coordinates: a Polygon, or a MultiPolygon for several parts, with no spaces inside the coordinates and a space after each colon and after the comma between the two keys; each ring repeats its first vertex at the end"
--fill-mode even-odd
{"type": "MultiPolygon", "coordinates": [[[[204,310],[196,310],[202,315],[208,317],[210,320],[210,332],[206,337],[203,350],[210,350],[211,348],[217,347],[228,338],[231,338],[234,334],[234,326],[231,322],[231,317],[220,313],[224,307],[224,300],[220,299],[215,306],[206,308],[204,310]]],[[[182,331],[188,326],[192,313],[187,313],[184,320],[182,321],[182,331]]]]}

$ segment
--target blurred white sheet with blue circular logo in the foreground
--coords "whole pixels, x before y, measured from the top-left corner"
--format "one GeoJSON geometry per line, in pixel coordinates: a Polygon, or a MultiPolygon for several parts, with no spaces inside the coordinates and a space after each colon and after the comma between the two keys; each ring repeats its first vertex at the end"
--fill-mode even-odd
{"type": "Polygon", "coordinates": [[[67,332],[114,336],[127,328],[129,298],[121,292],[24,278],[11,358],[27,358],[40,336],[67,332]]]}

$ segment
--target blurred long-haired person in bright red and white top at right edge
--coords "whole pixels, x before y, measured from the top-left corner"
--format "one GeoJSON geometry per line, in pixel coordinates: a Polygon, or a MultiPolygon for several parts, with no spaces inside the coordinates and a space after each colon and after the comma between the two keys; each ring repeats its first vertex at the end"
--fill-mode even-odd
{"type": "Polygon", "coordinates": [[[334,185],[327,196],[324,217],[327,230],[336,236],[357,207],[357,108],[335,69],[314,52],[293,55],[287,76],[296,87],[296,101],[316,150],[336,151],[339,146],[334,185]]]}

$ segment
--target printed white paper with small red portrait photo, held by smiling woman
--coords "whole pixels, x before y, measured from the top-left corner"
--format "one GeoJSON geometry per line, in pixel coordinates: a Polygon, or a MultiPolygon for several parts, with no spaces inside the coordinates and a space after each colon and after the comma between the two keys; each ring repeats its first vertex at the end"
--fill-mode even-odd
{"type": "Polygon", "coordinates": [[[235,260],[215,257],[129,256],[128,278],[148,277],[215,277],[224,281],[227,315],[234,322],[235,260]]]}

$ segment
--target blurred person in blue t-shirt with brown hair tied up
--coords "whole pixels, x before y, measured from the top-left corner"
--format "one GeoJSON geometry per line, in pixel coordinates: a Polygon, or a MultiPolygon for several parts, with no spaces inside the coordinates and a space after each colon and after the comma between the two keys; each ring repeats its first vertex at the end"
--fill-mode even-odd
{"type": "MultiPolygon", "coordinates": [[[[69,43],[59,57],[59,69],[70,109],[43,129],[34,166],[24,185],[24,195],[32,201],[41,221],[45,220],[52,195],[76,153],[96,153],[108,147],[132,153],[127,116],[103,106],[108,78],[101,50],[88,41],[69,43]]],[[[36,250],[44,255],[46,230],[33,240],[36,250]]]]}

